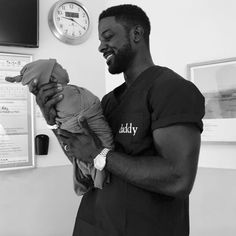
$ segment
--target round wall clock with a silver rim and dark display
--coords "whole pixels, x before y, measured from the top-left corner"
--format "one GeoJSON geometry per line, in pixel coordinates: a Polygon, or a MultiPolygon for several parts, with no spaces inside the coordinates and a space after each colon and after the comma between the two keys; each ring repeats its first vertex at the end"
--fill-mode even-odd
{"type": "Polygon", "coordinates": [[[89,37],[90,16],[76,0],[59,0],[50,9],[48,24],[52,33],[67,44],[80,44],[89,37]]]}

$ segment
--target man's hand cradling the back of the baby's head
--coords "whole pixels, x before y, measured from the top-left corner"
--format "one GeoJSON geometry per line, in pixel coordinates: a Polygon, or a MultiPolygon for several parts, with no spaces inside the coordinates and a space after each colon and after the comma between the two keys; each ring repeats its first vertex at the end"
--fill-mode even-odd
{"type": "Polygon", "coordinates": [[[55,105],[63,99],[60,93],[63,88],[56,81],[43,84],[40,88],[37,86],[38,81],[35,79],[29,85],[29,90],[36,96],[36,102],[40,107],[46,122],[49,125],[55,124],[56,110],[55,105]]]}

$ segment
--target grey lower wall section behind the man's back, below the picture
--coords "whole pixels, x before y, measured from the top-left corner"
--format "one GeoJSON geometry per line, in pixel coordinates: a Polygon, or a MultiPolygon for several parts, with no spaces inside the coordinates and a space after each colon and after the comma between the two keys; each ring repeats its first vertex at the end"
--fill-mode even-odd
{"type": "Polygon", "coordinates": [[[236,235],[236,171],[199,168],[190,195],[190,236],[236,235]]]}

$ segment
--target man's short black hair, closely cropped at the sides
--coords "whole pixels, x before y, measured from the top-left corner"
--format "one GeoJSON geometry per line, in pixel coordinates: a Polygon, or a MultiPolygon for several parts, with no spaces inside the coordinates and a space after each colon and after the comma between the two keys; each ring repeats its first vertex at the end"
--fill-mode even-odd
{"type": "Polygon", "coordinates": [[[122,23],[128,32],[131,27],[141,25],[144,29],[144,39],[149,45],[151,25],[148,16],[140,7],[132,4],[123,4],[107,8],[100,14],[99,21],[110,16],[114,16],[117,22],[122,23]]]}

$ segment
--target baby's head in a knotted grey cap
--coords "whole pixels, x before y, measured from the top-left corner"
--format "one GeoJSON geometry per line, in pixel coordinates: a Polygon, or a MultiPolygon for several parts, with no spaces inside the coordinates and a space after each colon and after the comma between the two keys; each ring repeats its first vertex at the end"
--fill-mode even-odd
{"type": "Polygon", "coordinates": [[[21,82],[30,85],[34,79],[38,80],[38,86],[46,84],[56,78],[57,82],[66,85],[69,83],[67,71],[57,63],[56,59],[41,59],[26,64],[20,71],[20,75],[6,77],[8,82],[21,82]]]}

